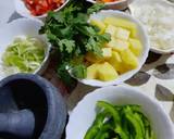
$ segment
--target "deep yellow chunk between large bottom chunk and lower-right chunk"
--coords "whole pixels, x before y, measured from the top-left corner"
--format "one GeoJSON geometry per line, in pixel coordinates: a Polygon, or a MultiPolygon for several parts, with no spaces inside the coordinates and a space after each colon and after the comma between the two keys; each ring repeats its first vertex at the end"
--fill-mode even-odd
{"type": "Polygon", "coordinates": [[[115,68],[116,72],[123,74],[128,70],[124,66],[121,55],[116,51],[112,51],[112,56],[108,60],[108,62],[115,68]]]}

